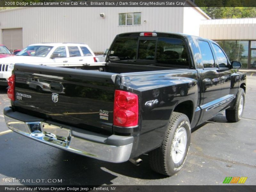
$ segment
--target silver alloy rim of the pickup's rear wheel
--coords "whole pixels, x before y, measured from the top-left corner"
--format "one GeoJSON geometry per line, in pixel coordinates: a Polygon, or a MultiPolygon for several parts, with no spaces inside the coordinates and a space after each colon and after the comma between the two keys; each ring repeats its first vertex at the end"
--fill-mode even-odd
{"type": "Polygon", "coordinates": [[[171,156],[173,163],[181,161],[187,147],[187,132],[184,127],[180,127],[172,140],[171,156]]]}

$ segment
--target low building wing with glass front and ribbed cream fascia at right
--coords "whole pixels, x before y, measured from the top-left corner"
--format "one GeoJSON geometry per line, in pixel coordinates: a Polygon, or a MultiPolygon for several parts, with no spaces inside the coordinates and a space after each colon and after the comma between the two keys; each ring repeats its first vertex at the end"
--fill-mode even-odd
{"type": "Polygon", "coordinates": [[[242,68],[256,69],[256,18],[202,20],[199,36],[216,41],[242,68]]]}

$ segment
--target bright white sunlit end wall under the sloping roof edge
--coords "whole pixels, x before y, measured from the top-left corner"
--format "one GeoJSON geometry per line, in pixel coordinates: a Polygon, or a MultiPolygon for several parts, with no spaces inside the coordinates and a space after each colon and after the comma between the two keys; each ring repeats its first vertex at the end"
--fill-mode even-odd
{"type": "Polygon", "coordinates": [[[196,7],[184,7],[183,33],[199,36],[201,20],[210,19],[206,15],[200,13],[201,11],[202,10],[196,7]]]}

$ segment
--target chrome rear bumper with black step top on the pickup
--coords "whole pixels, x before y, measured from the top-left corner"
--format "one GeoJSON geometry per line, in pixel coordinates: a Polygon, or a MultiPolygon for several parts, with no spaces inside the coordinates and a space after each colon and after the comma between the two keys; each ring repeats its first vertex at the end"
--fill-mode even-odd
{"type": "Polygon", "coordinates": [[[129,160],[133,137],[104,136],[78,128],[44,121],[11,108],[4,108],[9,129],[28,138],[95,159],[121,163],[129,160]]]}

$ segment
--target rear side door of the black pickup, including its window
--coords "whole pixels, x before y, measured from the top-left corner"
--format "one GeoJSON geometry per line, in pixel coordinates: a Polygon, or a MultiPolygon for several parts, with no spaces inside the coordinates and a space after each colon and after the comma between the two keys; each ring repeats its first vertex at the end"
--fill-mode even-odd
{"type": "Polygon", "coordinates": [[[198,71],[201,80],[201,122],[204,122],[215,116],[220,108],[220,72],[214,61],[209,42],[198,40],[198,45],[203,64],[203,68],[198,69],[198,71]]]}

